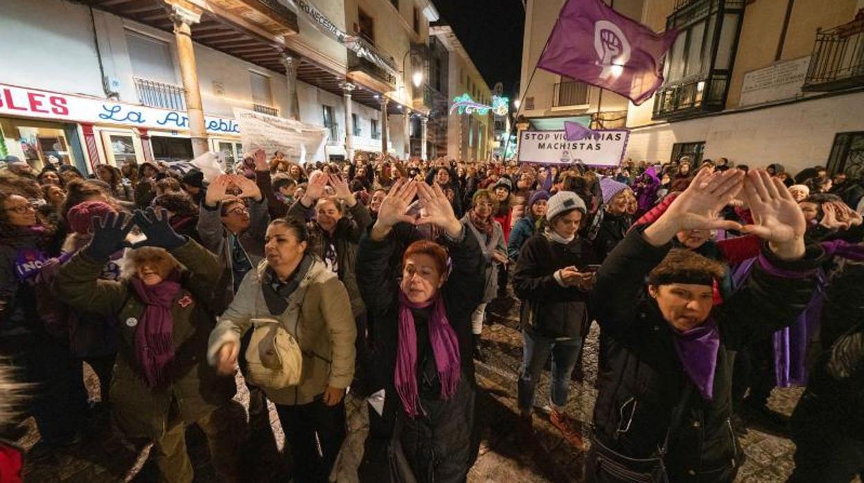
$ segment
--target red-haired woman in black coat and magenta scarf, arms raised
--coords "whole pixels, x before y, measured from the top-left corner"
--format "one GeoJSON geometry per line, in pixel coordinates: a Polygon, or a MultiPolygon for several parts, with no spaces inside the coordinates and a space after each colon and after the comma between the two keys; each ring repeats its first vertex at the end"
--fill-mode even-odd
{"type": "Polygon", "coordinates": [[[438,185],[400,181],[360,240],[357,279],[376,322],[383,416],[395,421],[385,463],[393,481],[461,482],[473,465],[479,441],[471,313],[483,295],[484,270],[476,237],[467,235],[438,185]],[[415,193],[424,213],[417,220],[405,214],[415,193]],[[390,261],[413,231],[401,222],[430,223],[444,235],[440,243],[410,243],[400,280],[390,261]]]}

